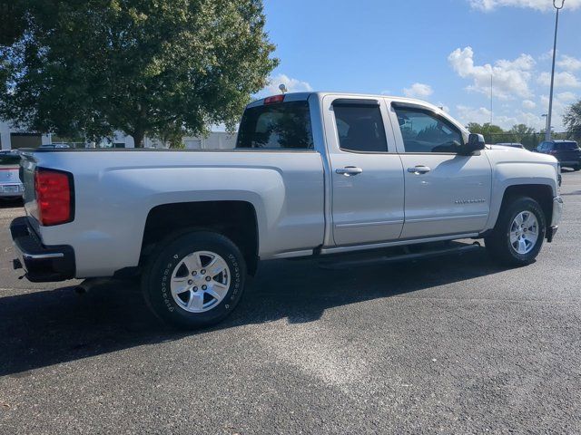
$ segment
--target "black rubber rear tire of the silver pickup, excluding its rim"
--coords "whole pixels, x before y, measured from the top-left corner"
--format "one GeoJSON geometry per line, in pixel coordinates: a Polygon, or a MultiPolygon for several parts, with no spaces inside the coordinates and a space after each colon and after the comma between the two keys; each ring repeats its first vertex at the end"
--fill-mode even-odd
{"type": "MultiPolygon", "coordinates": [[[[182,329],[196,329],[217,324],[231,314],[240,302],[245,278],[244,257],[229,238],[217,233],[194,231],[169,237],[153,253],[142,276],[142,290],[145,301],[163,322],[182,329]],[[229,267],[230,285],[221,302],[216,300],[208,311],[192,313],[174,300],[171,279],[175,267],[186,256],[199,251],[209,251],[222,257],[229,267]]],[[[202,296],[202,301],[205,298],[202,296]]]]}

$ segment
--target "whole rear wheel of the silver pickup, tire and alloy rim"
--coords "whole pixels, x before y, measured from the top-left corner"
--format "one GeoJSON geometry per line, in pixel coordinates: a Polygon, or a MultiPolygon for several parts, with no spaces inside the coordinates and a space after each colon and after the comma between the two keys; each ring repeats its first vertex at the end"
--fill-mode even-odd
{"type": "Polygon", "coordinates": [[[241,299],[246,265],[221,234],[196,231],[172,238],[152,256],[143,295],[167,324],[193,329],[222,321],[241,299]]]}

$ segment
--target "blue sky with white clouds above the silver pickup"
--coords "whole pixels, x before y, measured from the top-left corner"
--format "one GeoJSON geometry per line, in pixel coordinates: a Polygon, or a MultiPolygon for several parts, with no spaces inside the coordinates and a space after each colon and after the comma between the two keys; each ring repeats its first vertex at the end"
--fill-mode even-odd
{"type": "MultiPolygon", "coordinates": [[[[560,0],[559,0],[560,2],[560,0]]],[[[266,93],[389,93],[444,106],[459,121],[544,126],[552,0],[265,0],[280,66],[266,93]]],[[[559,20],[556,119],[581,98],[581,0],[559,20]]]]}

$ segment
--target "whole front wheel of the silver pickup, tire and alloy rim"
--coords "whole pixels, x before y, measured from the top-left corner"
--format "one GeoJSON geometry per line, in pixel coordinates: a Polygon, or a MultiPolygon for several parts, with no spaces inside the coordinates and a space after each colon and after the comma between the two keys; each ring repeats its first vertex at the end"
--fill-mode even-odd
{"type": "Polygon", "coordinates": [[[485,244],[501,264],[526,266],[537,257],[546,228],[545,214],[535,199],[509,199],[500,210],[494,230],[485,237],[485,244]]]}

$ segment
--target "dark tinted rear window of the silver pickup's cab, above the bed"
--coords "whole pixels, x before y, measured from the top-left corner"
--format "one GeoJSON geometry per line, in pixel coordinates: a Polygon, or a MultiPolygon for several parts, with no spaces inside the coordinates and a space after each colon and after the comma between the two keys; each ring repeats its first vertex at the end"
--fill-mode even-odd
{"type": "Polygon", "coordinates": [[[236,148],[312,150],[309,102],[281,102],[247,109],[236,148]]]}

